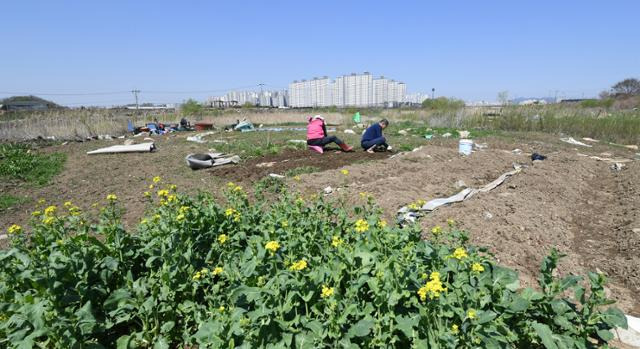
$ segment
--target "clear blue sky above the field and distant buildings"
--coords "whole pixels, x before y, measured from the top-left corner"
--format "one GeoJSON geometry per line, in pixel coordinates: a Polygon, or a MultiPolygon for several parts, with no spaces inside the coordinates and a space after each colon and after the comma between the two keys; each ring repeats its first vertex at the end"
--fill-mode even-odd
{"type": "Polygon", "coordinates": [[[363,71],[469,101],[595,96],[640,77],[639,13],[631,0],[6,1],[0,97],[121,104],[137,88],[178,102],[363,71]]]}

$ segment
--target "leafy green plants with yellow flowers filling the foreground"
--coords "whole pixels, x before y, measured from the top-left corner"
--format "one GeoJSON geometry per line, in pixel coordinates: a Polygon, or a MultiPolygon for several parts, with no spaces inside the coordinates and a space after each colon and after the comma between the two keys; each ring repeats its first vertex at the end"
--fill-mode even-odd
{"type": "Polygon", "coordinates": [[[0,345],[587,348],[626,324],[601,310],[602,274],[589,290],[552,276],[555,251],[541,291],[519,290],[454,222],[428,241],[388,226],[372,199],[352,211],[286,193],[266,204],[230,183],[221,206],[173,190],[135,234],[111,195],[95,224],[67,203],[36,212],[29,234],[9,228],[0,345]]]}

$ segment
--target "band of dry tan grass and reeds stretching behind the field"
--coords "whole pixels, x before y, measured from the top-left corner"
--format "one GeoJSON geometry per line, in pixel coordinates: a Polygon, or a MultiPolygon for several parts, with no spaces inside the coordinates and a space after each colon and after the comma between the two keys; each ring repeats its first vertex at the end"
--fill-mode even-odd
{"type": "MultiPolygon", "coordinates": [[[[354,109],[355,110],[355,109],[354,109]]],[[[322,114],[330,125],[351,127],[352,109],[339,112],[314,110],[205,110],[190,121],[212,122],[224,127],[247,119],[259,125],[304,125],[312,114],[322,114]]],[[[362,109],[363,122],[387,118],[392,123],[410,121],[436,128],[475,128],[503,131],[540,131],[602,138],[613,142],[640,143],[640,112],[632,109],[609,110],[576,105],[509,106],[503,108],[469,107],[458,110],[362,109]]],[[[167,112],[137,114],[131,110],[64,110],[45,113],[19,113],[0,116],[0,141],[35,138],[56,140],[84,139],[98,135],[119,136],[127,132],[127,120],[144,125],[157,119],[177,123],[181,116],[167,112]],[[13,117],[13,119],[11,119],[13,117]]]]}

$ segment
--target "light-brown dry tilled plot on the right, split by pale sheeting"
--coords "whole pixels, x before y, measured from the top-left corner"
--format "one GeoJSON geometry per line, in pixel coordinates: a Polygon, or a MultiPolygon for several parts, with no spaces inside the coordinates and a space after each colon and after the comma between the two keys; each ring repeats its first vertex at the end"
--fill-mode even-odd
{"type": "MultiPolygon", "coordinates": [[[[594,154],[603,149],[594,149],[594,154]]],[[[630,152],[619,154],[633,158],[630,152]]],[[[425,237],[452,218],[470,232],[473,243],[488,247],[528,284],[544,255],[557,247],[567,254],[562,274],[604,272],[612,297],[625,311],[640,315],[638,161],[612,171],[607,162],[578,156],[559,143],[492,140],[488,150],[468,158],[459,156],[454,146],[426,146],[393,159],[347,166],[348,175],[337,170],[303,175],[297,186],[308,192],[339,188],[333,195],[351,202],[361,192],[370,193],[392,220],[406,204],[458,193],[460,181],[471,188],[484,186],[514,163],[527,167],[491,192],[425,215],[420,220],[425,237]],[[516,155],[510,151],[514,148],[524,151],[516,155]],[[533,151],[549,158],[533,164],[533,151]]]]}

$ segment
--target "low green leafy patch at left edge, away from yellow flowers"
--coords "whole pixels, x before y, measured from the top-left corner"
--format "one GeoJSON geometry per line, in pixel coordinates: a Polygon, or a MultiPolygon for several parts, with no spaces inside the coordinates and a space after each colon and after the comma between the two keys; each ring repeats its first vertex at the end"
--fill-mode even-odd
{"type": "Polygon", "coordinates": [[[38,185],[49,183],[64,168],[66,155],[40,154],[25,144],[0,144],[0,177],[38,185]]]}

